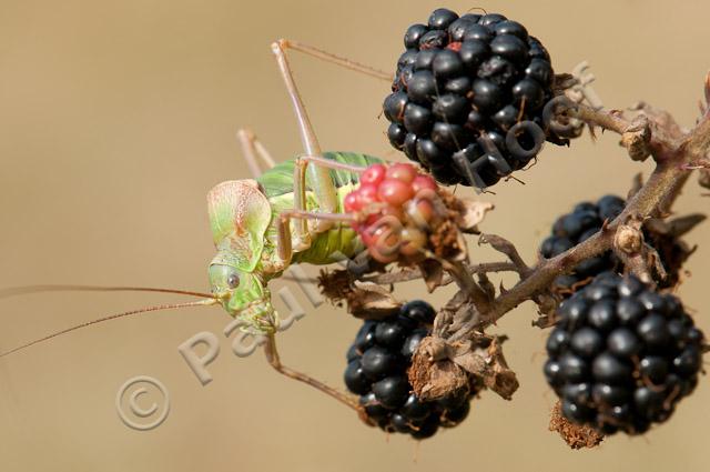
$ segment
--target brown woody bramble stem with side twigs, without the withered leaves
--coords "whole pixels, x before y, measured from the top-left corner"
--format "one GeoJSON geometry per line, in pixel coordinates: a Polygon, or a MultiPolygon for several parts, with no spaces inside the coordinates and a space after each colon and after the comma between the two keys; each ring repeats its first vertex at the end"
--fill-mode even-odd
{"type": "MultiPolygon", "coordinates": [[[[710,74],[706,81],[706,93],[710,96],[710,74]]],[[[703,109],[702,117],[691,130],[683,130],[668,112],[642,102],[630,110],[637,112],[632,119],[626,118],[619,110],[596,110],[572,102],[558,111],[561,118],[576,118],[592,129],[599,127],[618,133],[621,137],[620,145],[627,149],[631,159],[645,160],[651,157],[656,161],[656,169],[647,182],[637,182],[625,210],[615,220],[605,222],[597,234],[555,258],[542,259],[532,267],[525,263],[515,245],[506,239],[483,234],[479,244],[490,244],[505,254],[508,261],[445,268],[449,275],[440,284],[456,281],[462,291],[456,300],[460,302],[468,295],[471,302],[468,310],[474,312],[466,312],[460,303],[456,303],[456,310],[443,310],[440,317],[446,320],[437,322],[440,337],[452,342],[473,340],[485,328],[528,300],[540,305],[542,312],[549,311],[549,288],[555,278],[571,272],[580,262],[609,250],[613,250],[627,263],[628,270],[642,279],[649,280],[649,273],[652,272],[663,274],[656,251],[643,241],[642,234],[638,241],[633,241],[633,237],[640,234],[641,225],[649,220],[661,220],[670,214],[670,208],[691,172],[699,168],[698,162],[708,161],[710,107],[703,109]],[[520,280],[510,290],[501,289],[497,297],[491,298],[491,284],[486,274],[493,272],[514,272],[520,280]],[[474,275],[478,278],[477,281],[474,275]],[[443,324],[447,324],[448,330],[443,329],[443,324]],[[455,329],[452,330],[453,328],[455,329]]],[[[704,170],[703,167],[700,169],[704,170]]],[[[362,280],[394,284],[422,277],[422,270],[413,268],[368,275],[362,280]]]]}

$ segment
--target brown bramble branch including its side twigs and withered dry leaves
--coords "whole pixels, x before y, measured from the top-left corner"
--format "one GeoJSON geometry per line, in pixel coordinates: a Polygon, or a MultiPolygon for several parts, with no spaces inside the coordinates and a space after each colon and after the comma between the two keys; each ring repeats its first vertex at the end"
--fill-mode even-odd
{"type": "MultiPolygon", "coordinates": [[[[710,100],[710,74],[706,81],[706,96],[710,100]]],[[[515,372],[503,356],[503,339],[486,334],[486,328],[526,301],[534,301],[542,314],[534,324],[548,327],[557,307],[557,295],[550,290],[555,279],[606,251],[613,251],[625,269],[640,279],[652,283],[653,275],[658,275],[663,280],[666,270],[660,257],[645,241],[642,230],[679,235],[704,219],[704,215],[692,214],[665,221],[692,171],[699,170],[701,185],[710,188],[710,103],[702,108],[702,117],[691,130],[678,125],[668,112],[646,103],[632,108],[636,112],[632,119],[618,110],[597,110],[571,101],[564,102],[561,108],[556,111],[560,122],[576,119],[588,124],[592,132],[598,127],[618,133],[620,145],[626,148],[632,160],[642,161],[650,157],[656,162],[646,182],[640,178],[635,180],[626,207],[617,218],[605,221],[600,231],[576,247],[551,259],[540,259],[534,265],[525,262],[510,241],[496,234],[481,234],[478,243],[489,244],[504,254],[506,261],[469,264],[465,254],[450,260],[437,257],[433,265],[419,264],[396,272],[351,272],[344,275],[348,279],[343,285],[351,290],[351,297],[344,297],[339,289],[332,292],[334,300],[347,298],[353,314],[366,305],[367,310],[361,311],[372,317],[372,307],[378,307],[383,313],[397,309],[398,302],[390,297],[387,285],[424,279],[429,290],[434,290],[457,283],[459,290],[437,313],[432,335],[426,343],[423,342],[424,348],[417,350],[409,370],[409,381],[422,398],[436,398],[474,382],[510,399],[518,388],[515,372]],[[519,280],[509,290],[503,287],[496,290],[488,274],[497,272],[515,273],[519,280]]],[[[473,223],[463,225],[459,222],[459,229],[478,233],[476,223],[490,208],[480,207],[481,211],[470,213],[473,223]]],[[[692,250],[687,250],[687,254],[690,252],[692,250]]],[[[341,287],[338,283],[332,285],[341,287]]]]}

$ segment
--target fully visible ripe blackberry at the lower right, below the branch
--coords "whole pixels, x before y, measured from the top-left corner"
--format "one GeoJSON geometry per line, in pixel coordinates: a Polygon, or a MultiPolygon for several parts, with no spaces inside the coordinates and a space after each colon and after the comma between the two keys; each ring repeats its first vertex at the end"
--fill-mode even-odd
{"type": "Polygon", "coordinates": [[[703,334],[676,297],[607,273],[558,315],[544,371],[569,421],[640,434],[696,388],[703,334]]]}

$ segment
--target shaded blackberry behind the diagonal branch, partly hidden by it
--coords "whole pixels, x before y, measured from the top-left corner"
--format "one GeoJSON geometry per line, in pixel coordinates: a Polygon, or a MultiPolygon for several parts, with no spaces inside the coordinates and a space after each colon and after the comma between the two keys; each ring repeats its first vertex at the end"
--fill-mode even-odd
{"type": "MultiPolygon", "coordinates": [[[[571,213],[564,214],[555,221],[551,234],[540,245],[540,253],[546,259],[554,258],[587,240],[601,230],[605,220],[611,221],[618,217],[625,204],[625,200],[617,195],[605,195],[596,203],[578,203],[571,213]]],[[[658,234],[648,229],[643,229],[643,234],[646,242],[658,251],[667,271],[668,277],[657,281],[659,288],[674,287],[678,283],[680,268],[689,255],[688,251],[671,235],[658,234]]],[[[559,275],[555,279],[552,289],[562,295],[569,295],[605,271],[623,271],[623,264],[612,251],[581,262],[569,274],[559,275]]]]}

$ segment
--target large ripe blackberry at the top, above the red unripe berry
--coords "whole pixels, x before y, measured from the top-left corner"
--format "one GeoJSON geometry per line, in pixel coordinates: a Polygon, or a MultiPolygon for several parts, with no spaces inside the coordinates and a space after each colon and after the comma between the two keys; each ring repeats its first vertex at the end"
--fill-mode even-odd
{"type": "Polygon", "coordinates": [[[439,182],[493,185],[525,167],[545,140],[568,143],[544,131],[554,72],[547,50],[523,24],[438,9],[428,24],[410,26],[404,43],[384,102],[387,134],[439,182]],[[517,125],[523,122],[537,124],[538,133],[517,125]]]}

